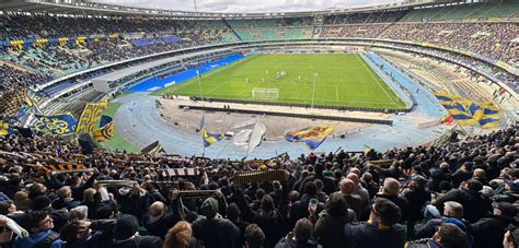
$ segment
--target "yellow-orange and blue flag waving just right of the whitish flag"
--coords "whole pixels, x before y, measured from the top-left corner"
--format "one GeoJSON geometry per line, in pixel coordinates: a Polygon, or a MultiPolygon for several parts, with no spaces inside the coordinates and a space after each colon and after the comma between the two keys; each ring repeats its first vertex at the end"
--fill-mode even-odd
{"type": "Polygon", "coordinates": [[[310,150],[315,150],[333,132],[334,126],[305,128],[287,132],[285,139],[289,142],[303,142],[310,150]]]}

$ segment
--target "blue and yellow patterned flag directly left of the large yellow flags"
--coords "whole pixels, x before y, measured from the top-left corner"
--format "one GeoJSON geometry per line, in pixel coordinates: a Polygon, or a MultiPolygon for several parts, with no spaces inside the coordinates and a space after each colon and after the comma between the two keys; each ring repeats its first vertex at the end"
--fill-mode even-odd
{"type": "Polygon", "coordinates": [[[36,122],[34,129],[42,132],[50,132],[53,134],[66,135],[76,131],[78,121],[70,114],[43,116],[34,115],[36,122]]]}

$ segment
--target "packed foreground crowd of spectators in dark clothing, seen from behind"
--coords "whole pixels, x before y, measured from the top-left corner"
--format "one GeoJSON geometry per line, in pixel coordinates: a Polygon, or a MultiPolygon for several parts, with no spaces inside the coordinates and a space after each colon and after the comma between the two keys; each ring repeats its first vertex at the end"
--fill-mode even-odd
{"type": "Polygon", "coordinates": [[[437,146],[261,162],[84,154],[23,129],[0,147],[2,247],[518,245],[517,127],[437,146]],[[57,169],[68,163],[83,169],[57,169]],[[269,170],[282,176],[235,179],[269,170]]]}

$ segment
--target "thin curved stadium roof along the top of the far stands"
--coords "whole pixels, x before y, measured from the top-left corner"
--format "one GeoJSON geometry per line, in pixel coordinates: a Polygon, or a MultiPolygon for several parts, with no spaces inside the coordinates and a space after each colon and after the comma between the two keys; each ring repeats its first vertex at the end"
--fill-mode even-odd
{"type": "Polygon", "coordinates": [[[86,2],[82,0],[67,0],[67,3],[56,3],[56,0],[7,0],[0,3],[2,12],[32,12],[32,13],[55,13],[72,15],[140,15],[140,16],[162,16],[173,19],[272,19],[280,16],[308,16],[314,14],[338,14],[347,12],[368,12],[391,9],[402,9],[418,5],[430,5],[453,0],[407,0],[401,3],[389,3],[372,7],[324,10],[324,11],[302,11],[302,12],[268,12],[268,13],[218,13],[218,12],[194,12],[174,11],[163,9],[146,9],[135,7],[124,7],[106,3],[86,2]]]}

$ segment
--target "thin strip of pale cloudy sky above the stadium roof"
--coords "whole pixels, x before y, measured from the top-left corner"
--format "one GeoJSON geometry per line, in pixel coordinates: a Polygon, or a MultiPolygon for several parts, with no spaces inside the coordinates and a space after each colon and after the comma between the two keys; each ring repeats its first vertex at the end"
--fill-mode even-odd
{"type": "MultiPolygon", "coordinates": [[[[194,11],[193,0],[91,0],[93,2],[151,9],[194,11]]],[[[204,12],[290,12],[307,10],[344,9],[402,0],[196,0],[204,12]]]]}

